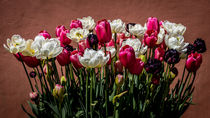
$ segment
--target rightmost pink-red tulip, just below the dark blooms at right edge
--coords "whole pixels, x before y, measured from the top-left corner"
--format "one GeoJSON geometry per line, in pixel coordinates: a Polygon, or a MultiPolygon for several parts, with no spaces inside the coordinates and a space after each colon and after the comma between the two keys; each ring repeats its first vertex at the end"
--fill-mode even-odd
{"type": "Polygon", "coordinates": [[[191,53],[186,61],[186,68],[190,72],[196,72],[202,63],[202,55],[199,53],[191,53]]]}

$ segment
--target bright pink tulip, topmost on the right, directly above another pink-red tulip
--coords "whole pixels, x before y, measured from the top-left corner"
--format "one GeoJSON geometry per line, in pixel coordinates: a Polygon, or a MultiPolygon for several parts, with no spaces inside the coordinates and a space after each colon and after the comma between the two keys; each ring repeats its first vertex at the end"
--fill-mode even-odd
{"type": "Polygon", "coordinates": [[[160,31],[160,26],[158,19],[155,17],[149,17],[147,20],[147,33],[151,34],[152,32],[157,32],[157,34],[160,31]]]}

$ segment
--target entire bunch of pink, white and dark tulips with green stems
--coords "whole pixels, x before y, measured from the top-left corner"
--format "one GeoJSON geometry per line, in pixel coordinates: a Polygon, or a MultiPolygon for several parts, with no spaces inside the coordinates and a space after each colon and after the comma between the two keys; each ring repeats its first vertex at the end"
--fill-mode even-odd
{"type": "Polygon", "coordinates": [[[21,106],[29,117],[178,118],[193,104],[206,51],[200,38],[184,42],[185,30],[155,17],[144,26],[84,17],[58,26],[56,38],[45,30],[34,40],[13,35],[4,47],[26,72],[33,114],[21,106]]]}

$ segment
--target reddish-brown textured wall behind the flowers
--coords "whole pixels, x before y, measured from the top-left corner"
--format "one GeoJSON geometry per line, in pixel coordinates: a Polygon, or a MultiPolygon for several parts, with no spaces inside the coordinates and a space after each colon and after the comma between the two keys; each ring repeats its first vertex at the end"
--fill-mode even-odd
{"type": "MultiPolygon", "coordinates": [[[[96,21],[120,18],[144,24],[148,17],[155,16],[182,23],[187,27],[186,41],[201,37],[210,49],[209,0],[0,0],[0,117],[26,118],[20,104],[27,106],[30,92],[21,63],[2,46],[6,39],[13,34],[34,38],[43,29],[55,36],[56,26],[69,27],[72,19],[89,15],[96,21]]],[[[193,98],[196,105],[183,118],[210,117],[209,57],[207,51],[198,70],[193,98]]]]}

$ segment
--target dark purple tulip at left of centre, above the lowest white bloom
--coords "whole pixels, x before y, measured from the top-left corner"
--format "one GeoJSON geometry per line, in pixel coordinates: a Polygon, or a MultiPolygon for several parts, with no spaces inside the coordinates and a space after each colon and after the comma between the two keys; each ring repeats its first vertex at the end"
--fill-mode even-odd
{"type": "Polygon", "coordinates": [[[98,47],[98,38],[95,34],[89,34],[86,39],[87,48],[96,50],[98,47]]]}

